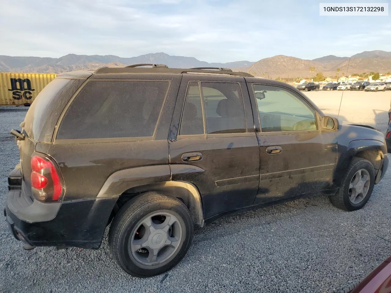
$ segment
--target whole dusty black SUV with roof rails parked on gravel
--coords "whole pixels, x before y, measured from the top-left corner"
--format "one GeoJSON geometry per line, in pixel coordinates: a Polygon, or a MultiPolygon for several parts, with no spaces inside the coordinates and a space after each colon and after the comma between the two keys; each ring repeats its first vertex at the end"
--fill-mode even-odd
{"type": "Polygon", "coordinates": [[[284,82],[146,65],[59,74],[11,130],[5,215],[25,249],[97,249],[111,224],[114,259],[148,277],[183,258],[194,225],[319,191],[361,209],[387,170],[382,133],[284,82]]]}

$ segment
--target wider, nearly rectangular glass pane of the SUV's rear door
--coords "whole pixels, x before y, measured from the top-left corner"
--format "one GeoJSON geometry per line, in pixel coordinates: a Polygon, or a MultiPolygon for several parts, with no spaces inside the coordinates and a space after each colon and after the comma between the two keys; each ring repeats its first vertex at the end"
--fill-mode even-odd
{"type": "Polygon", "coordinates": [[[208,134],[246,132],[240,85],[201,82],[208,134]]]}

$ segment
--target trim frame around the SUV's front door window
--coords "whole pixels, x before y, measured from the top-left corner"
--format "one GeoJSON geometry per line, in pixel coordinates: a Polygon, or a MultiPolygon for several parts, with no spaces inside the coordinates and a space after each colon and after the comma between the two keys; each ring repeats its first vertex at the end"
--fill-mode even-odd
{"type": "Polygon", "coordinates": [[[268,84],[268,83],[251,83],[251,90],[252,90],[252,98],[255,102],[255,107],[256,107],[256,113],[257,113],[257,116],[258,116],[258,122],[259,122],[259,129],[256,127],[256,133],[257,134],[262,134],[262,135],[283,135],[283,134],[297,134],[298,132],[300,132],[300,134],[311,134],[311,133],[316,133],[316,132],[320,132],[320,122],[319,122],[319,113],[316,111],[316,109],[314,107],[312,107],[311,104],[309,104],[307,102],[307,100],[305,98],[303,98],[301,95],[299,95],[298,93],[292,91],[291,89],[289,88],[286,88],[284,86],[280,86],[280,85],[276,85],[276,84],[268,84]],[[312,111],[314,111],[314,117],[315,117],[315,122],[316,122],[316,130],[286,130],[286,131],[269,131],[269,132],[262,132],[262,122],[261,122],[261,118],[259,116],[259,111],[258,111],[258,103],[256,102],[256,98],[255,98],[255,89],[254,89],[254,86],[275,86],[275,87],[278,87],[278,88],[282,88],[286,91],[289,91],[290,93],[292,93],[293,95],[295,95],[297,98],[300,99],[301,102],[303,102],[303,104],[307,105],[308,108],[312,109],[312,111]]]}

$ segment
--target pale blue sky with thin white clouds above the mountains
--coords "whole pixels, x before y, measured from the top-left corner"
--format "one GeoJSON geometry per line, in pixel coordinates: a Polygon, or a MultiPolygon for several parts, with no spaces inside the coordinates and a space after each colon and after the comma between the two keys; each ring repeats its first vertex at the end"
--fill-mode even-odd
{"type": "Polygon", "coordinates": [[[0,0],[0,55],[164,52],[225,63],[371,50],[391,51],[391,16],[319,16],[314,0],[0,0]]]}

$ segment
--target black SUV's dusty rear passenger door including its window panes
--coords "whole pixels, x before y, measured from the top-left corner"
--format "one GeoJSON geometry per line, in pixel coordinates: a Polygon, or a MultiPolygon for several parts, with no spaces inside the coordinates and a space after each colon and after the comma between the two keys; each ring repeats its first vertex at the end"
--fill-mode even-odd
{"type": "Polygon", "coordinates": [[[252,205],[259,146],[244,78],[184,74],[169,150],[172,180],[199,189],[205,219],[252,205]]]}

